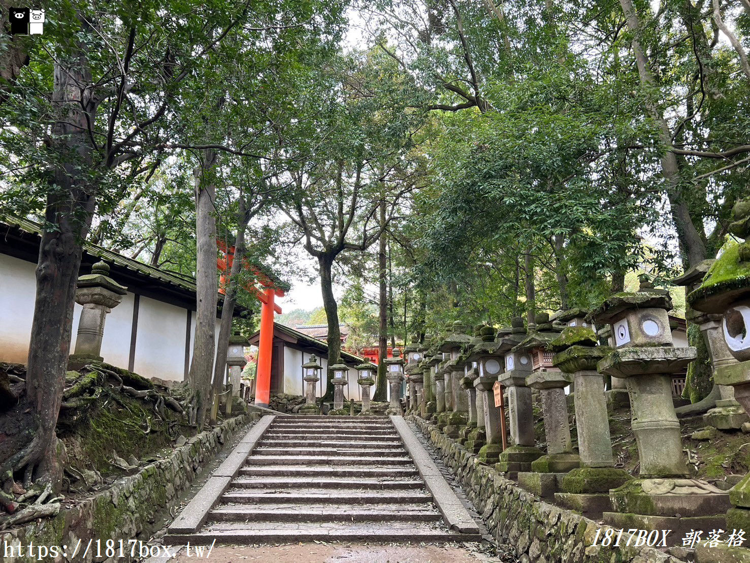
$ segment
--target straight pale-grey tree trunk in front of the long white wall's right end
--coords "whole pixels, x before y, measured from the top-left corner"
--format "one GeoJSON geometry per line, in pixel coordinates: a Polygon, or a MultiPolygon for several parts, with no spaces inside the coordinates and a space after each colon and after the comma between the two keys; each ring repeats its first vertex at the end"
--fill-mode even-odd
{"type": "Polygon", "coordinates": [[[211,372],[214,367],[214,334],[216,330],[217,275],[216,275],[216,218],[214,216],[214,167],[216,154],[211,149],[202,151],[201,163],[193,171],[196,207],[196,322],[193,337],[193,360],[187,373],[187,384],[193,391],[195,423],[202,428],[211,372]]]}

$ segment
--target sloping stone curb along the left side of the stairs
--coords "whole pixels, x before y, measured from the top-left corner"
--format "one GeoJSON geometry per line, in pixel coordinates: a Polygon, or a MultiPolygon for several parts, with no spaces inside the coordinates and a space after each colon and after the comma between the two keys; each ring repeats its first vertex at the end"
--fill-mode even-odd
{"type": "Polygon", "coordinates": [[[274,415],[264,416],[248,430],[237,447],[221,462],[211,477],[208,477],[205,485],[169,525],[169,534],[194,534],[202,527],[208,518],[208,512],[217,504],[221,495],[229,487],[229,483],[239,474],[248,455],[274,419],[274,415]]]}

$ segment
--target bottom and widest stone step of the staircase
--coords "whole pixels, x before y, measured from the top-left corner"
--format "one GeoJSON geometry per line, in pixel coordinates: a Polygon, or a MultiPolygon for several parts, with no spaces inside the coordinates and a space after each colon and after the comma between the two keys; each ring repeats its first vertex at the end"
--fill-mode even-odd
{"type": "Polygon", "coordinates": [[[310,522],[284,524],[257,522],[248,528],[244,522],[217,522],[197,534],[167,534],[163,542],[172,545],[211,545],[236,543],[289,543],[305,541],[367,541],[368,543],[446,543],[481,541],[480,534],[448,531],[438,523],[428,522],[310,522]]]}

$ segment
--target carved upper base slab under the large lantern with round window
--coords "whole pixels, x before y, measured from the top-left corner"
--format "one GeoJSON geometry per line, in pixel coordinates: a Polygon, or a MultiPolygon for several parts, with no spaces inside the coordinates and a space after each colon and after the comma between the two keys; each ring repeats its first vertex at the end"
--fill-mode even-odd
{"type": "Polygon", "coordinates": [[[649,516],[720,514],[723,519],[731,507],[727,492],[697,479],[633,479],[612,489],[610,498],[618,512],[649,516]]]}

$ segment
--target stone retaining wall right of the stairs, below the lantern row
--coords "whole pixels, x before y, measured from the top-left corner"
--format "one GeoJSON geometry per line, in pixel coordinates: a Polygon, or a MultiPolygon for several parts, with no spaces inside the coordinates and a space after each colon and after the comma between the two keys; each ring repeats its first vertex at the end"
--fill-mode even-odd
{"type": "MultiPolygon", "coordinates": [[[[556,507],[520,489],[494,468],[448,438],[434,425],[409,417],[443,456],[443,462],[460,480],[464,491],[498,543],[514,546],[520,563],[679,563],[678,559],[649,547],[592,546],[597,528],[607,526],[572,510],[556,507]]],[[[602,533],[604,530],[602,530],[602,533]]],[[[624,543],[627,534],[622,535],[624,543]]]]}

